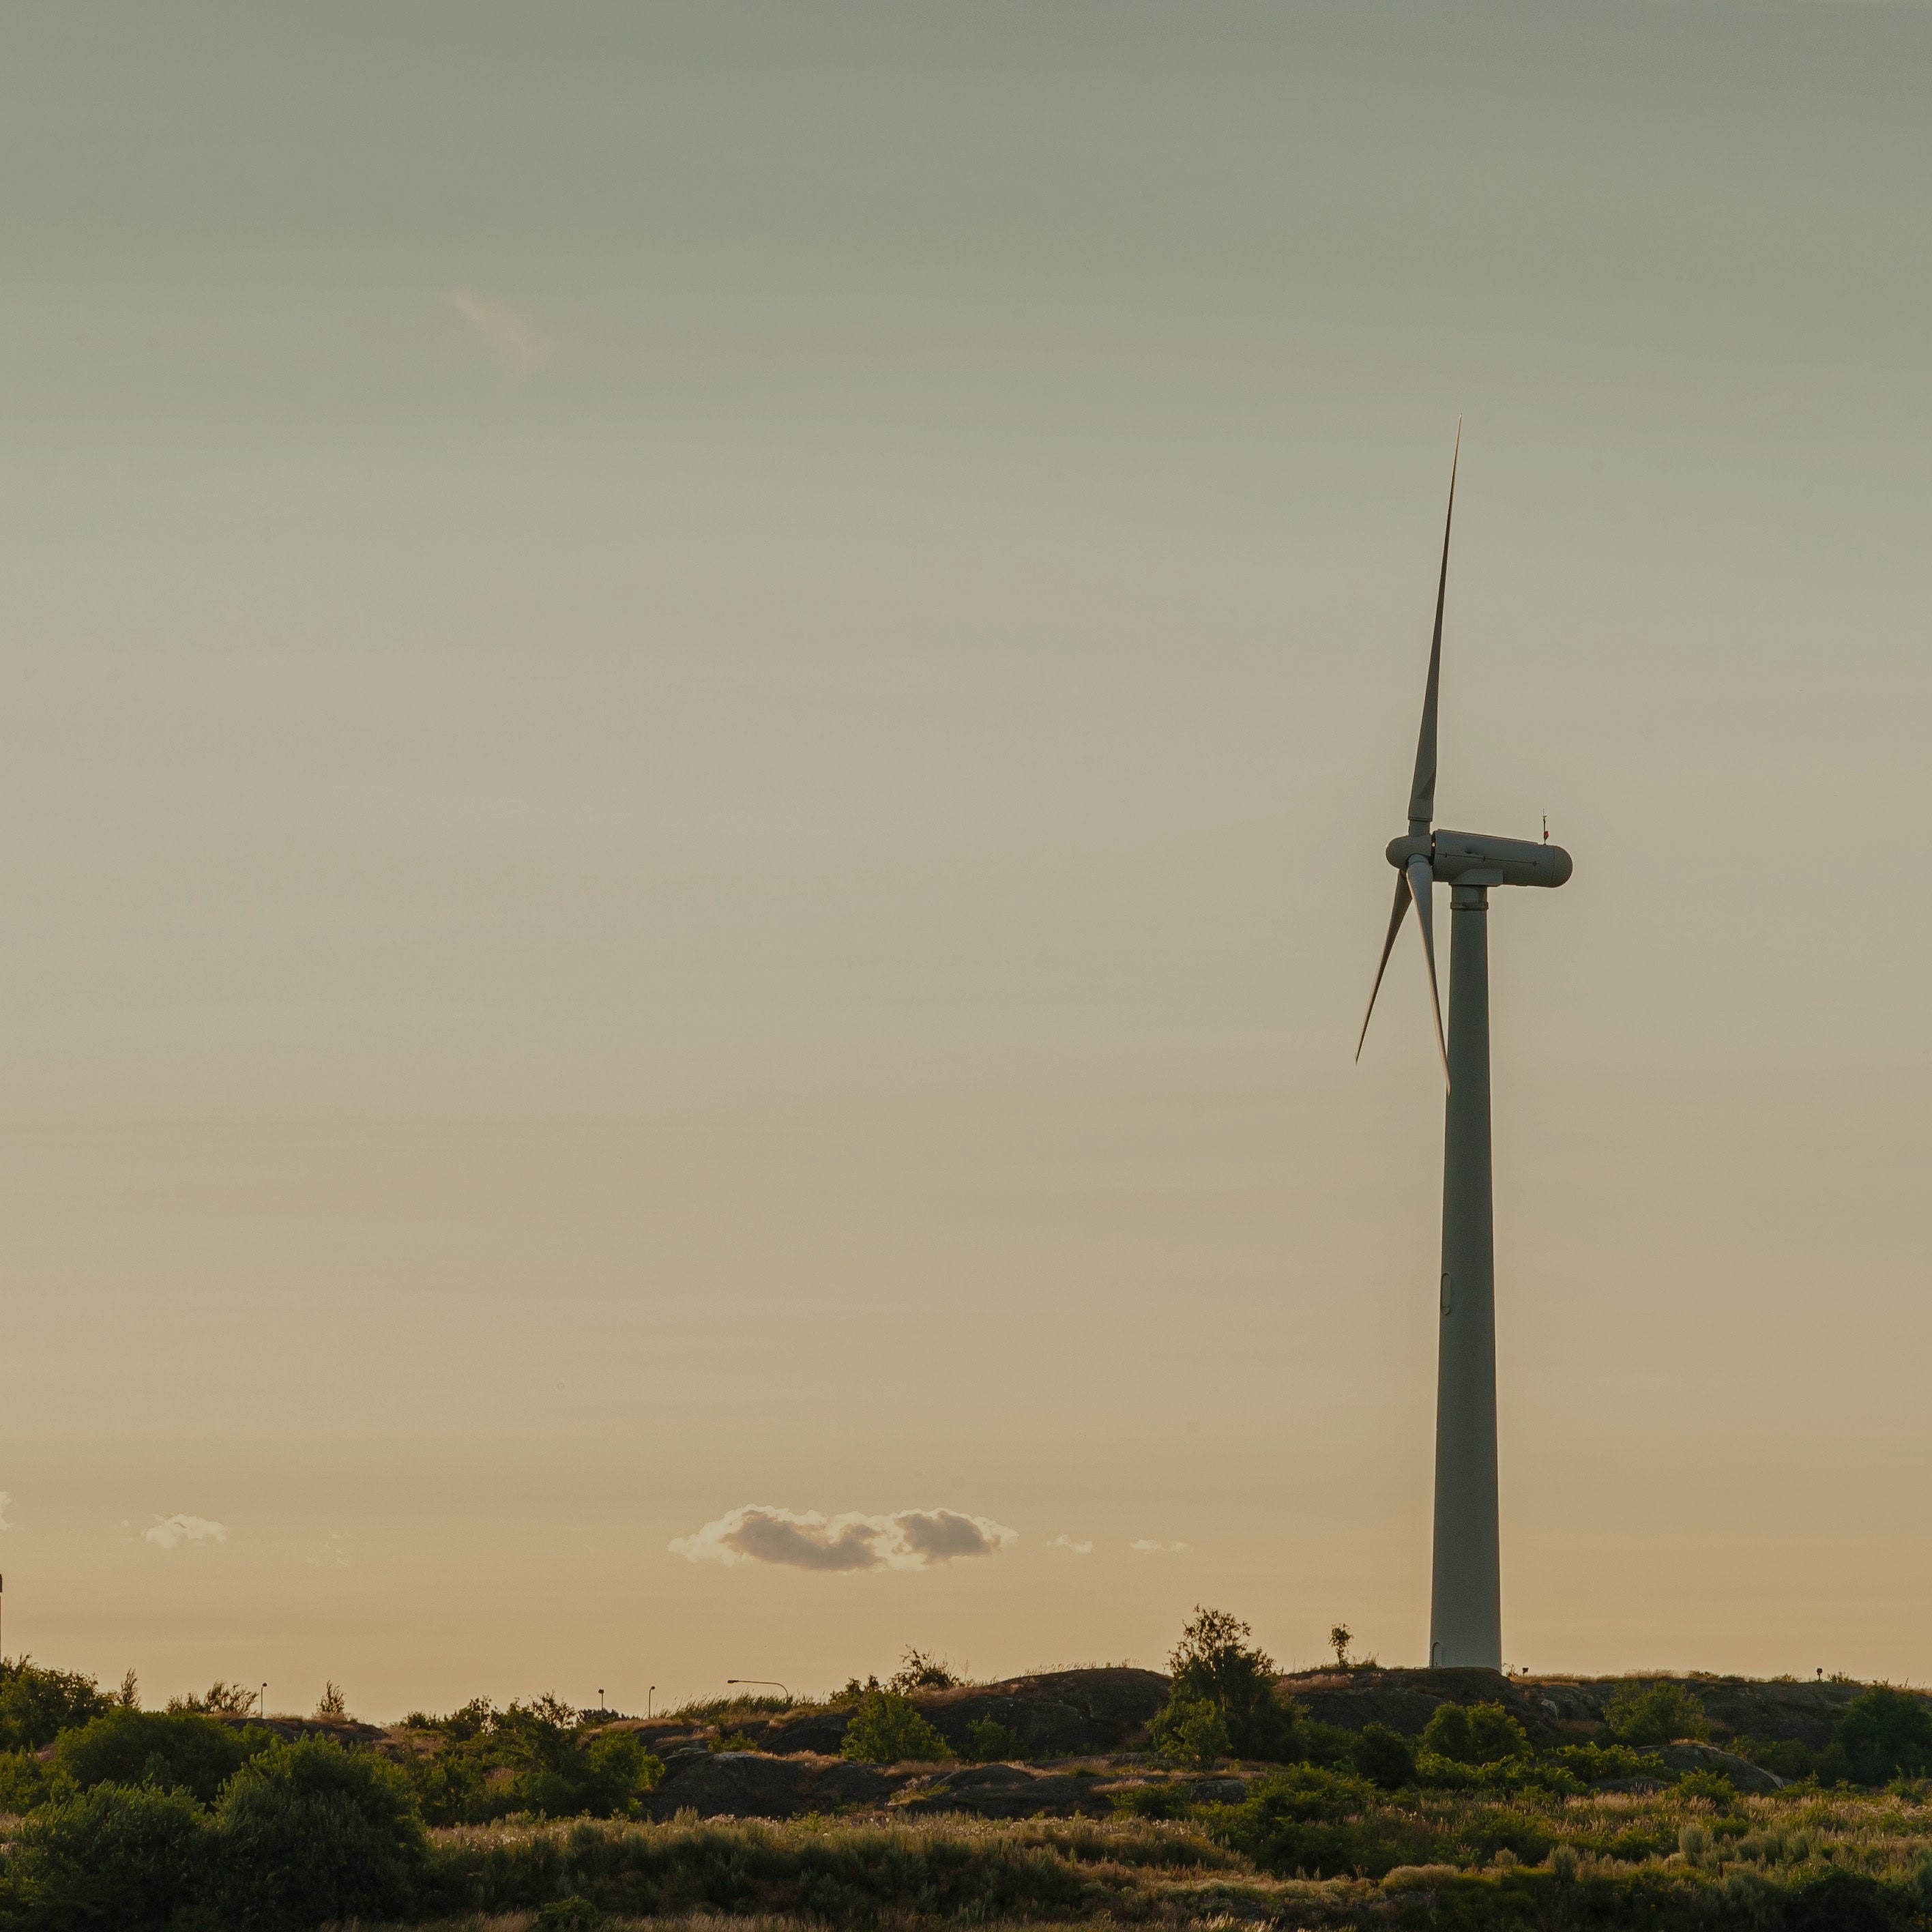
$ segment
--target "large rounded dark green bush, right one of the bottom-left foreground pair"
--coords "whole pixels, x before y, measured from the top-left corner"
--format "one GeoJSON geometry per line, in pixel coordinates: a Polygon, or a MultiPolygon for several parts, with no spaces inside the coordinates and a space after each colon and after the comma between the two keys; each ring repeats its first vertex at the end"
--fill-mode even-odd
{"type": "Polygon", "coordinates": [[[224,1932],[400,1918],[429,1864],[402,1774],[328,1739],[276,1745],[230,1781],[214,1820],[224,1932]]]}

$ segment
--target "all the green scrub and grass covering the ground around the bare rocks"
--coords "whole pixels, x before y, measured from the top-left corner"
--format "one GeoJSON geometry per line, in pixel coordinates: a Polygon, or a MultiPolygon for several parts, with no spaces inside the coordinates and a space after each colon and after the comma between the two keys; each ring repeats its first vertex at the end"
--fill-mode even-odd
{"type": "MultiPolygon", "coordinates": [[[[1492,1677],[1495,1696],[1437,1689],[1428,1721],[1399,1731],[1314,1718],[1335,1706],[1285,1694],[1294,1683],[1221,1611],[1196,1611],[1171,1663],[1142,1745],[1039,1781],[1086,1816],[929,1808],[962,1787],[1018,1789],[1024,1810],[1034,1774],[941,1762],[999,1766],[1020,1739],[966,1721],[956,1700],[976,1692],[908,1652],[885,1685],[811,1706],[813,1721],[842,1719],[852,1760],[811,1762],[866,1789],[869,1810],[699,1820],[674,1808],[684,1785],[659,1791],[665,1764],[630,1719],[556,1698],[475,1700],[375,1731],[340,1698],[315,1719],[251,1721],[222,1685],[141,1710],[131,1681],[100,1692],[21,1660],[0,1665],[0,1735],[19,1739],[0,1752],[15,1814],[0,1830],[0,1932],[454,1932],[477,1915],[522,1915],[500,1932],[587,1932],[717,1913],[800,1928],[1932,1928],[1922,1696],[1835,1692],[1801,1781],[1752,1795],[1731,1776],[1748,1781],[1739,1758],[1685,1743],[1725,1725],[1683,1681],[1600,1687],[1602,1716],[1565,1727],[1492,1677]],[[947,1681],[922,1681],[925,1667],[947,1681]],[[929,1714],[964,1748],[949,1750],[929,1714]]],[[[1159,1679],[1140,1681],[1148,1712],[1159,1679]]],[[[1362,1694],[1358,1675],[1329,1683],[1362,1694]]],[[[1010,1692],[995,1708],[1034,1721],[1010,1692]]],[[[678,1776],[711,1766],[742,1781],[781,1760],[726,1764],[709,1747],[750,1745],[742,1727],[800,1706],[705,1708],[701,1725],[694,1710],[672,1719],[678,1776]]]]}

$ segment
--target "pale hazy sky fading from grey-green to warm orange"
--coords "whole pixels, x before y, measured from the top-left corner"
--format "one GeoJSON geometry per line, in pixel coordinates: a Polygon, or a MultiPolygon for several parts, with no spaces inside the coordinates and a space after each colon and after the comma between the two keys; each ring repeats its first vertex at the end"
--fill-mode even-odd
{"type": "Polygon", "coordinates": [[[1932,1677],[1928,99],[1822,0],[10,6],[6,1648],[1422,1662],[1461,415],[1439,819],[1577,862],[1505,1656],[1932,1677]]]}

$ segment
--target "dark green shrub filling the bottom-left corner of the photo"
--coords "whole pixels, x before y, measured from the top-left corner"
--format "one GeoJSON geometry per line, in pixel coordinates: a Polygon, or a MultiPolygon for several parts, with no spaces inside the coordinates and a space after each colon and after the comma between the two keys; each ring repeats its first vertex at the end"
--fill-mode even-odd
{"type": "Polygon", "coordinates": [[[8,1861],[15,1924],[35,1932],[158,1932],[209,1870],[207,1812],[185,1791],[95,1785],[21,1828],[8,1861]]]}

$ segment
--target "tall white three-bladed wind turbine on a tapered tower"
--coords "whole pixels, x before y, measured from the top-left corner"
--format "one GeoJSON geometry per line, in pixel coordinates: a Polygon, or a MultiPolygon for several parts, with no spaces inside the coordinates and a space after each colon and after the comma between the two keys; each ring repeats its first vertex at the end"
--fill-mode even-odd
{"type": "Polygon", "coordinates": [[[1488,833],[1434,831],[1435,686],[1443,659],[1443,593],[1449,587],[1449,527],[1455,522],[1455,469],[1449,460],[1449,514],[1443,566],[1435,582],[1435,638],[1422,694],[1416,777],[1408,788],[1408,833],[1389,840],[1395,908],[1381,964],[1368,993],[1354,1057],[1395,935],[1410,902],[1422,927],[1430,972],[1435,1051],[1447,1088],[1443,1126],[1443,1269],[1435,1343],[1435,1559],[1430,1577],[1430,1663],[1503,1667],[1503,1584],[1495,1517],[1495,1208],[1490,1194],[1490,887],[1561,885],[1571,875],[1563,846],[1488,833]],[[1435,987],[1435,925],[1430,898],[1449,887],[1449,1034],[1435,987]]]}

